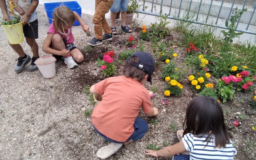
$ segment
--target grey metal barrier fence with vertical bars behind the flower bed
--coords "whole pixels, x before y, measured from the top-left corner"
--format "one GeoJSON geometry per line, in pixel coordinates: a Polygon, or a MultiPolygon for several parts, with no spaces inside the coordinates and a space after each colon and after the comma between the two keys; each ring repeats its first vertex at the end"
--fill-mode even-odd
{"type": "MultiPolygon", "coordinates": [[[[161,6],[160,12],[158,12],[158,13],[153,12],[153,11],[156,11],[156,9],[154,10],[154,7],[155,7],[154,0],[147,0],[147,1],[152,1],[151,4],[150,4],[151,5],[150,12],[145,11],[145,3],[147,3],[147,4],[150,3],[150,2],[145,2],[145,0],[144,0],[143,3],[138,1],[138,0],[135,0],[135,5],[136,4],[143,5],[142,10],[135,10],[135,12],[160,17],[160,14],[162,13],[163,0],[161,0],[161,3],[158,3],[161,6]]],[[[244,5],[243,5],[242,8],[241,7],[238,8],[239,10],[243,10],[244,8],[247,8],[245,6],[246,1],[247,0],[244,1],[244,5]]],[[[222,0],[220,5],[213,5],[213,0],[211,0],[210,4],[208,3],[207,5],[205,5],[203,0],[201,0],[200,2],[194,2],[193,0],[178,0],[178,1],[175,0],[175,2],[178,2],[179,4],[175,4],[174,0],[169,1],[168,6],[170,6],[170,9],[169,9],[168,18],[174,19],[174,20],[179,20],[179,21],[185,21],[185,22],[200,24],[200,25],[218,27],[218,28],[222,28],[222,29],[227,29],[227,27],[225,26],[225,23],[224,24],[218,24],[219,18],[224,18],[224,19],[229,21],[231,13],[234,13],[234,8],[235,8],[234,7],[235,0],[233,0],[232,5],[228,6],[228,7],[227,7],[227,5],[224,6],[224,0],[222,0]],[[191,6],[194,6],[194,7],[191,9],[191,6]],[[202,7],[202,6],[204,6],[204,7],[202,7]],[[214,6],[214,12],[212,12],[213,6],[214,6]],[[172,12],[173,10],[175,10],[175,16],[171,16],[171,13],[173,13],[172,12]],[[186,11],[186,15],[189,15],[190,13],[193,13],[193,14],[196,15],[196,17],[194,17],[193,19],[188,19],[187,18],[188,16],[184,17],[183,15],[181,15],[182,10],[186,11]],[[214,15],[214,13],[216,13],[216,14],[214,15]],[[229,13],[229,14],[227,14],[227,13],[229,13]],[[200,18],[199,18],[200,15],[204,17],[204,20],[200,20],[200,18]],[[212,19],[211,19],[211,22],[209,22],[209,17],[215,17],[214,22],[213,22],[212,19]]],[[[165,0],[165,3],[166,3],[166,0],[165,0]]],[[[148,8],[150,8],[150,7],[148,7],[148,8]]],[[[244,28],[239,28],[240,27],[239,22],[241,21],[241,17],[239,17],[239,19],[237,20],[237,24],[236,24],[236,26],[237,26],[236,31],[256,35],[256,29],[255,29],[256,15],[254,16],[255,8],[256,8],[256,1],[254,3],[254,7],[250,7],[241,16],[242,17],[242,22],[247,24],[247,27],[246,28],[245,27],[244,28]],[[249,27],[249,26],[251,26],[251,27],[249,27]]]]}

